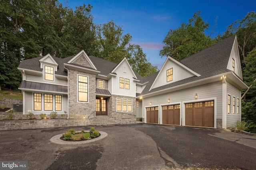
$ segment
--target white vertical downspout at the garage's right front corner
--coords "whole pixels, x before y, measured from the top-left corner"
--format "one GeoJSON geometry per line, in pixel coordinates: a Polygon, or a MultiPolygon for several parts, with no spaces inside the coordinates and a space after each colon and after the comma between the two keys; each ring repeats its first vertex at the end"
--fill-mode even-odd
{"type": "Polygon", "coordinates": [[[226,79],[225,79],[225,76],[223,75],[222,76],[222,129],[226,129],[227,127],[227,114],[226,114],[226,111],[227,111],[227,104],[226,104],[226,101],[227,101],[227,82],[226,82],[226,79]]]}

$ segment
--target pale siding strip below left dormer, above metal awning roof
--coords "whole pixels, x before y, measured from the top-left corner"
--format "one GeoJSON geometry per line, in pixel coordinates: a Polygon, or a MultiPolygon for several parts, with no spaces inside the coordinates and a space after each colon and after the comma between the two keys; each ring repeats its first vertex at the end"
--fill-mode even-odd
{"type": "Polygon", "coordinates": [[[54,81],[47,81],[47,80],[44,80],[44,76],[35,76],[31,74],[26,74],[26,81],[56,84],[60,86],[68,86],[68,80],[61,80],[55,77],[54,81]]]}

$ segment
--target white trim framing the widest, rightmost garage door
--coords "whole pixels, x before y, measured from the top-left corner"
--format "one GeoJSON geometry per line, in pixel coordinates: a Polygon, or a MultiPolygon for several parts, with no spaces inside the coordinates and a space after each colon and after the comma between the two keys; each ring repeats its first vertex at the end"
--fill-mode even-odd
{"type": "MultiPolygon", "coordinates": [[[[182,102],[182,125],[183,126],[188,126],[185,124],[185,112],[186,112],[186,107],[185,107],[185,104],[187,103],[196,103],[196,102],[207,102],[207,101],[212,101],[214,100],[214,128],[216,129],[217,127],[217,98],[214,97],[214,98],[204,98],[204,99],[195,99],[195,100],[188,100],[188,101],[183,101],[182,102]]],[[[193,126],[195,127],[195,126],[193,126]]],[[[211,128],[211,127],[207,127],[207,128],[211,128]]]]}

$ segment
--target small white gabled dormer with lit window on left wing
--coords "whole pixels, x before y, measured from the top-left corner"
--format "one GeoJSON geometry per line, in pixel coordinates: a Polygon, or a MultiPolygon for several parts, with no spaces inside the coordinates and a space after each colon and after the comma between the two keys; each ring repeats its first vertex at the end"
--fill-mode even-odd
{"type": "Polygon", "coordinates": [[[58,63],[56,63],[50,54],[44,56],[39,62],[40,68],[43,69],[44,80],[54,81],[55,71],[58,70],[58,63]]]}

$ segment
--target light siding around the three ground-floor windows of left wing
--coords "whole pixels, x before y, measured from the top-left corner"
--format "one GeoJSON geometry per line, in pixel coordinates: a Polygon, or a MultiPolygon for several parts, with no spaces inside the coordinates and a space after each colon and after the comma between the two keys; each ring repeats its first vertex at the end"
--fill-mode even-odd
{"type": "MultiPolygon", "coordinates": [[[[46,114],[50,114],[52,111],[55,111],[54,106],[55,106],[55,97],[54,97],[54,93],[47,93],[47,92],[35,92],[35,93],[40,93],[42,94],[42,110],[40,111],[34,111],[34,98],[33,98],[33,94],[34,92],[24,92],[24,103],[26,103],[26,105],[24,105],[23,108],[23,114],[28,114],[28,110],[30,110],[32,113],[34,114],[40,114],[40,113],[46,113],[46,114]],[[52,94],[53,95],[53,110],[52,111],[44,111],[44,94],[52,94]]],[[[64,114],[64,111],[68,112],[68,95],[66,94],[57,94],[57,95],[61,95],[62,96],[62,111],[56,111],[58,114],[64,114]]]]}

